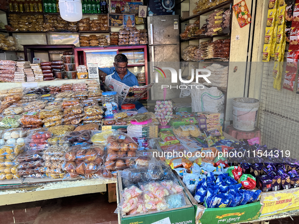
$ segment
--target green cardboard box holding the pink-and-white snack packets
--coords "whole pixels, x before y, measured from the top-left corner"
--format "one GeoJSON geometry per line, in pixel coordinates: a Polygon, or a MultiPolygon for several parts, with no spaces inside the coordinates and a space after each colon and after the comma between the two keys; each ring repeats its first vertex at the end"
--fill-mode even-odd
{"type": "MultiPolygon", "coordinates": [[[[122,182],[121,177],[118,173],[117,177],[117,204],[119,204],[121,196],[120,193],[122,191],[122,182]]],[[[184,197],[186,200],[186,205],[181,208],[174,208],[174,209],[166,209],[164,211],[155,212],[151,214],[136,214],[126,216],[124,213],[118,215],[118,223],[121,224],[132,224],[132,223],[142,223],[142,224],[152,224],[154,222],[159,221],[159,223],[194,223],[194,207],[185,193],[184,197]],[[163,219],[163,221],[162,221],[163,219]]]]}

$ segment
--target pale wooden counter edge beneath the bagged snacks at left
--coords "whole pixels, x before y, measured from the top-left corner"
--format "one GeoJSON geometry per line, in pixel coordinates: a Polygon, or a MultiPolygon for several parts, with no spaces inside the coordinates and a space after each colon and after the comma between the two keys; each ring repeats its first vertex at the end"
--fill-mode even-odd
{"type": "Polygon", "coordinates": [[[116,178],[70,181],[57,181],[55,179],[26,181],[25,179],[23,184],[0,186],[0,206],[106,192],[106,184],[110,183],[116,183],[116,178]]]}

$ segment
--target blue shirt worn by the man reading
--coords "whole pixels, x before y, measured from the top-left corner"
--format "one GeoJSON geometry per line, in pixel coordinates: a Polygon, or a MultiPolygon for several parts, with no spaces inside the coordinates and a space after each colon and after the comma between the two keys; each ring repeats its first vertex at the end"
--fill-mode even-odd
{"type": "MultiPolygon", "coordinates": [[[[112,78],[126,84],[127,86],[130,86],[130,87],[132,87],[134,85],[139,86],[139,83],[138,83],[138,80],[137,80],[136,76],[127,69],[126,69],[126,74],[122,79],[120,79],[120,77],[117,74],[117,72],[115,71],[114,67],[112,67],[112,68],[99,68],[99,69],[102,72],[105,72],[107,75],[111,75],[112,73],[114,73],[112,75],[112,78]]],[[[136,101],[134,104],[135,104],[135,107],[136,107],[137,110],[139,110],[140,108],[143,107],[143,105],[141,103],[139,103],[138,101],[136,101]]]]}

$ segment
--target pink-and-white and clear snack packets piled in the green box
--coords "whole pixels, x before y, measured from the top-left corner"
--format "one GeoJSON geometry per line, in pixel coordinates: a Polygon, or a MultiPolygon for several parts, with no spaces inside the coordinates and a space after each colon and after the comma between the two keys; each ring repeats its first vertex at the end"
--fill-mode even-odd
{"type": "Polygon", "coordinates": [[[123,170],[121,180],[123,190],[116,213],[153,213],[186,205],[184,188],[170,167],[161,161],[152,161],[146,167],[123,170]]]}

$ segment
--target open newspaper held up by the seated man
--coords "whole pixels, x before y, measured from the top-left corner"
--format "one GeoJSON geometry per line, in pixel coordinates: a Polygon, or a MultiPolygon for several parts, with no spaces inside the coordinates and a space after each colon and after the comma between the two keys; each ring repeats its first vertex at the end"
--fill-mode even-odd
{"type": "Polygon", "coordinates": [[[118,104],[132,104],[141,98],[149,91],[149,89],[153,86],[154,83],[150,83],[148,85],[137,86],[134,85],[132,87],[127,86],[126,84],[115,80],[112,78],[112,74],[106,76],[105,84],[107,85],[109,91],[116,91],[118,96],[118,104]]]}

